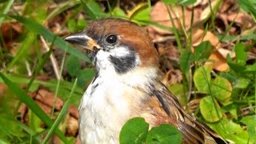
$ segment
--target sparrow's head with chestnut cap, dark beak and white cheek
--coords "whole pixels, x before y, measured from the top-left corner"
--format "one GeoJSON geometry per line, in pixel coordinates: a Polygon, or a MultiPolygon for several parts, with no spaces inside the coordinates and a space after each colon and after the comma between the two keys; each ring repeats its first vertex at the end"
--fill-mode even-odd
{"type": "MultiPolygon", "coordinates": [[[[86,49],[96,69],[118,75],[158,68],[158,53],[146,30],[134,22],[106,18],[65,38],[86,49]]],[[[150,73],[150,72],[148,72],[150,73]]]]}

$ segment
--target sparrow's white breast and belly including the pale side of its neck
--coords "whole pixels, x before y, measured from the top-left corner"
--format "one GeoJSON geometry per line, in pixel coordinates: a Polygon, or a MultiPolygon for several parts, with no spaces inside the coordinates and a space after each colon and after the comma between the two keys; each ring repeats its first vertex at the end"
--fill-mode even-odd
{"type": "MultiPolygon", "coordinates": [[[[149,75],[153,71],[149,71],[149,75]]],[[[143,98],[144,93],[134,86],[144,83],[140,81],[149,81],[140,75],[142,73],[131,74],[124,78],[113,71],[104,71],[88,86],[79,107],[82,143],[119,143],[123,124],[138,115],[134,111],[143,98]]]]}

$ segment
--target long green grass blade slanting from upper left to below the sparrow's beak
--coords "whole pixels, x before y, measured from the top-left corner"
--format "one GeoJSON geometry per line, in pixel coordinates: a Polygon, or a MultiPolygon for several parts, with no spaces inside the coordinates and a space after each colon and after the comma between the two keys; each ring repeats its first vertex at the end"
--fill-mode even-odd
{"type": "MultiPolygon", "coordinates": [[[[10,18],[16,19],[18,22],[22,22],[28,30],[34,32],[35,34],[42,35],[43,38],[46,38],[47,41],[53,42],[55,34],[50,30],[47,30],[44,26],[40,25],[38,22],[34,21],[30,18],[25,18],[18,15],[9,15],[10,18]]],[[[58,46],[58,48],[68,51],[70,54],[81,58],[86,62],[90,62],[90,58],[86,57],[85,54],[82,54],[80,51],[76,50],[73,46],[70,46],[67,42],[65,42],[62,38],[56,36],[54,44],[58,46]]]]}

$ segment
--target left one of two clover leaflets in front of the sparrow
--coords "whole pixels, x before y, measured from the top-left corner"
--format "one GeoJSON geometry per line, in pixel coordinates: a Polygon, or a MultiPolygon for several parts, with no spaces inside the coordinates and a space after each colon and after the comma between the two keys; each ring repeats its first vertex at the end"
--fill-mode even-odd
{"type": "Polygon", "coordinates": [[[131,118],[128,120],[119,135],[120,144],[142,143],[146,142],[146,134],[149,130],[149,124],[144,118],[131,118]]]}

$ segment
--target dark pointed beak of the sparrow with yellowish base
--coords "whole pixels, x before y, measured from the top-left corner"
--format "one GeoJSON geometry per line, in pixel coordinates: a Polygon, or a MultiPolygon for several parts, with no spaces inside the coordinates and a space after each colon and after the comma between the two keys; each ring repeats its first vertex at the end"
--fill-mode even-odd
{"type": "Polygon", "coordinates": [[[101,46],[98,46],[97,42],[88,37],[84,32],[71,34],[70,36],[64,38],[64,40],[86,50],[94,51],[96,49],[101,49],[101,46]]]}

